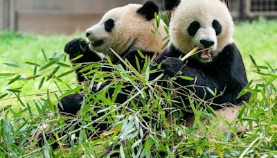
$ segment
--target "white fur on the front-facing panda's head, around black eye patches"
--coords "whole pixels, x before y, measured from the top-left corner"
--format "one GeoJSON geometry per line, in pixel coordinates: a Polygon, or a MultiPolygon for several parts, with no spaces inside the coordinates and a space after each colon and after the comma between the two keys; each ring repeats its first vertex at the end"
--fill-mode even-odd
{"type": "Polygon", "coordinates": [[[227,44],[233,42],[233,20],[226,5],[220,0],[182,0],[176,8],[170,22],[170,38],[182,53],[188,53],[195,46],[202,48],[200,40],[211,40],[215,57],[227,44]],[[213,20],[220,22],[222,33],[216,36],[213,20]],[[193,21],[200,23],[200,29],[194,37],[188,35],[188,26],[193,21]]]}

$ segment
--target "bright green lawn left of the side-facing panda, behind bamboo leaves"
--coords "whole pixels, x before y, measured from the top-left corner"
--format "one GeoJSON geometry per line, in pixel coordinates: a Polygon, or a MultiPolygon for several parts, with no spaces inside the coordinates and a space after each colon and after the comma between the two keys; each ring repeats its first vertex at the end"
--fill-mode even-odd
{"type": "MultiPolygon", "coordinates": [[[[46,63],[42,49],[44,50],[46,57],[51,58],[54,53],[58,55],[64,54],[64,45],[73,37],[81,37],[80,33],[75,35],[33,35],[33,34],[17,34],[14,32],[6,31],[0,34],[0,72],[1,73],[16,73],[21,71],[23,73],[21,77],[27,77],[33,75],[34,66],[26,64],[26,62],[34,62],[36,64],[46,63]],[[10,61],[15,60],[15,62],[10,61]],[[23,70],[15,69],[13,67],[8,67],[3,63],[13,63],[19,64],[21,67],[24,67],[23,70]],[[17,62],[17,63],[16,63],[17,62]]],[[[69,60],[66,58],[64,60],[66,64],[69,64],[69,60]]],[[[58,73],[66,71],[66,69],[60,69],[58,73]]],[[[76,82],[74,75],[66,76],[63,78],[66,82],[76,82]]],[[[2,80],[0,82],[0,93],[4,93],[5,89],[21,87],[22,82],[15,82],[12,85],[6,86],[8,80],[2,80]]],[[[39,80],[36,82],[28,82],[24,85],[22,89],[23,94],[37,94],[45,92],[48,86],[53,85],[51,82],[45,82],[42,89],[38,89],[39,80]]],[[[54,86],[55,88],[55,86],[54,86]]]]}

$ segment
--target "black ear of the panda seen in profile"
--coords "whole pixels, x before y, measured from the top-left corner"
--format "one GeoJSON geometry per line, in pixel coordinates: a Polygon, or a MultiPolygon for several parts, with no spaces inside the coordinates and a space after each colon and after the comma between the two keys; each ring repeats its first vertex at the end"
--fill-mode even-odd
{"type": "Polygon", "coordinates": [[[159,7],[153,1],[147,1],[137,11],[139,15],[143,15],[148,21],[154,19],[155,12],[159,13],[159,7]]]}

